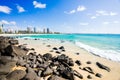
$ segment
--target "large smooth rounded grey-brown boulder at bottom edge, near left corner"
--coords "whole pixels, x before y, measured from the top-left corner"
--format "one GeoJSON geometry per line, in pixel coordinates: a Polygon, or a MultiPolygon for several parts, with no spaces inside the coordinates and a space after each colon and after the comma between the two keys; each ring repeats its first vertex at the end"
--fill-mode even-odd
{"type": "Polygon", "coordinates": [[[11,73],[9,73],[6,78],[8,80],[20,80],[26,75],[26,72],[23,70],[15,70],[11,73]]]}

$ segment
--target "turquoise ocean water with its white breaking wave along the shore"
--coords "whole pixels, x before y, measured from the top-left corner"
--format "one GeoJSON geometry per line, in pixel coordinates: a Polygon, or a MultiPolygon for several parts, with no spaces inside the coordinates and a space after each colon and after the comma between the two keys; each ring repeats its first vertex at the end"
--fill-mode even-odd
{"type": "Polygon", "coordinates": [[[47,38],[73,42],[92,54],[120,61],[120,34],[40,34],[19,38],[47,38]]]}

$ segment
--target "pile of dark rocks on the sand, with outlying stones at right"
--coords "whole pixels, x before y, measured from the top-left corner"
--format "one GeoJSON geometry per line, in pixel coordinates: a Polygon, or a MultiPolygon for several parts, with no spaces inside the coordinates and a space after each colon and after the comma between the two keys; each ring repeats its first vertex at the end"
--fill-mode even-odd
{"type": "MultiPolygon", "coordinates": [[[[59,48],[65,51],[64,47],[59,48]]],[[[0,80],[75,80],[75,76],[83,79],[83,75],[73,70],[72,67],[77,64],[82,65],[81,61],[73,61],[72,58],[59,52],[58,56],[53,56],[50,53],[44,55],[30,52],[34,48],[29,49],[24,45],[19,45],[18,40],[9,37],[0,37],[0,80]],[[14,69],[14,67],[21,66],[25,68],[14,69]]],[[[53,48],[53,50],[58,50],[53,48]]],[[[87,64],[91,64],[90,61],[87,64]]],[[[96,62],[96,65],[110,72],[110,68],[103,64],[96,62]]],[[[82,70],[101,78],[102,74],[95,73],[91,67],[84,67],[82,70]]],[[[92,79],[91,75],[87,76],[92,79]]]]}

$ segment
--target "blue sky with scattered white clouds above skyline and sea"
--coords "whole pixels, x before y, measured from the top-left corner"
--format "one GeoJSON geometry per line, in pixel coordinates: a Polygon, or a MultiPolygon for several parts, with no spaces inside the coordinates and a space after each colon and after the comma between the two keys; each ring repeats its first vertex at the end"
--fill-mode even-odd
{"type": "Polygon", "coordinates": [[[0,24],[66,33],[120,33],[120,0],[0,0],[0,24]]]}

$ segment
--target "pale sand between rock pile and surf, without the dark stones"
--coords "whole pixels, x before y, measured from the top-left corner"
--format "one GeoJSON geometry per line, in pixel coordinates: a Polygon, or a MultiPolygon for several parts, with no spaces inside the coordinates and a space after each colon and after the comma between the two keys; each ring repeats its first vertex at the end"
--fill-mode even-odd
{"type": "MultiPolygon", "coordinates": [[[[83,75],[82,80],[88,80],[87,76],[91,75],[91,80],[120,80],[120,63],[110,61],[95,55],[92,55],[85,51],[84,49],[79,48],[78,46],[70,43],[70,42],[61,42],[58,40],[48,40],[48,39],[41,39],[41,40],[33,40],[33,39],[18,39],[20,44],[27,44],[27,47],[34,48],[37,53],[45,54],[51,53],[53,56],[59,55],[55,53],[55,51],[51,52],[53,47],[59,48],[60,46],[65,47],[65,52],[61,52],[61,54],[65,54],[72,58],[74,61],[80,60],[81,64],[78,66],[77,64],[74,65],[73,69],[77,70],[79,73],[83,75]],[[80,53],[76,55],[76,53],[80,53]],[[86,64],[87,61],[91,61],[91,64],[86,64]],[[111,69],[110,72],[106,70],[102,70],[97,67],[96,62],[100,62],[111,69]],[[94,74],[90,74],[84,70],[81,70],[84,67],[91,67],[94,73],[102,74],[102,78],[96,77],[94,74]],[[79,69],[81,68],[81,69],[79,69]]],[[[80,80],[76,77],[76,80],[80,80]]]]}

